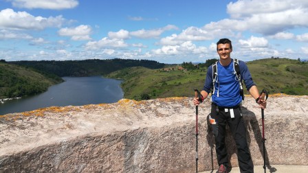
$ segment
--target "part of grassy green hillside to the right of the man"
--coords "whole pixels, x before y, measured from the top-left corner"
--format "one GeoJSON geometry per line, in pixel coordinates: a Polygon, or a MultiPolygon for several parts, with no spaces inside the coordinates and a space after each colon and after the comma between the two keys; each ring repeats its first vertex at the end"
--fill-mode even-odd
{"type": "Polygon", "coordinates": [[[308,95],[308,63],[287,58],[268,58],[247,63],[259,89],[270,93],[308,95]]]}

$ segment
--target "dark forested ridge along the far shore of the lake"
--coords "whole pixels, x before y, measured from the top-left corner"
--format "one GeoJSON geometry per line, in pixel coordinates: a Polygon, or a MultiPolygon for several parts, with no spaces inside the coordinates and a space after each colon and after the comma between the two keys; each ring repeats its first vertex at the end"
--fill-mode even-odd
{"type": "Polygon", "coordinates": [[[113,71],[126,67],[147,67],[159,69],[164,64],[154,60],[123,60],[119,58],[110,60],[21,60],[8,62],[10,64],[31,67],[45,73],[53,73],[57,76],[98,76],[106,75],[113,71]]]}

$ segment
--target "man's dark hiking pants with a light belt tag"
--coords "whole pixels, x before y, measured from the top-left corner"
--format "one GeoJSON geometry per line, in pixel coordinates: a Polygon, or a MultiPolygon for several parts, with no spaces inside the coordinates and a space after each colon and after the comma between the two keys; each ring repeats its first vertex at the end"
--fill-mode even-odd
{"type": "Polygon", "coordinates": [[[236,143],[241,172],[254,172],[254,165],[246,139],[246,128],[241,115],[241,106],[222,108],[212,103],[209,121],[216,142],[217,161],[219,165],[228,165],[228,154],[225,148],[225,126],[228,123],[236,143]]]}

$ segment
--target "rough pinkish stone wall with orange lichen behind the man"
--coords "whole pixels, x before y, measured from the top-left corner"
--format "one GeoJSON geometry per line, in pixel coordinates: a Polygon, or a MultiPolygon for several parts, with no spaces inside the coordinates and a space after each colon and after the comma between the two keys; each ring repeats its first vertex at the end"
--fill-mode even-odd
{"type": "MultiPolygon", "coordinates": [[[[270,95],[265,109],[267,166],[308,165],[308,96],[270,95]]],[[[245,97],[243,118],[254,165],[263,165],[261,109],[245,97]]],[[[198,168],[217,168],[199,106],[198,168]]],[[[41,108],[0,116],[0,172],[195,172],[192,97],[41,108]]],[[[230,165],[238,166],[228,131],[230,165]]]]}

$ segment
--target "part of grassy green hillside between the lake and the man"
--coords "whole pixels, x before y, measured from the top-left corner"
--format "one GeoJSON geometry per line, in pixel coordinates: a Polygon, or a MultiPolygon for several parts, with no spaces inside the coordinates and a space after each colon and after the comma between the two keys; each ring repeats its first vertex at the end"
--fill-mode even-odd
{"type": "Polygon", "coordinates": [[[124,97],[144,100],[156,97],[188,96],[196,86],[203,84],[204,71],[164,71],[133,67],[109,74],[109,78],[122,78],[124,97]]]}

